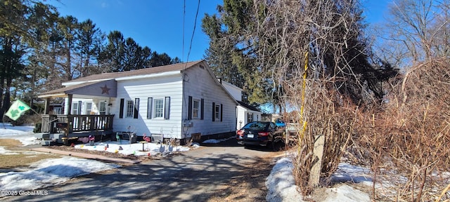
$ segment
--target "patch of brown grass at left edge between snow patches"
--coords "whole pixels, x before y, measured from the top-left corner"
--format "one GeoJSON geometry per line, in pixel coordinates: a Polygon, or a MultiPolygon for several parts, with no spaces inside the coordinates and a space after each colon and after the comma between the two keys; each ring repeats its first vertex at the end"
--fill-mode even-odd
{"type": "Polygon", "coordinates": [[[38,152],[21,151],[22,143],[18,140],[0,139],[0,147],[11,150],[15,154],[0,154],[0,169],[13,169],[20,167],[28,167],[30,163],[40,161],[42,159],[59,158],[56,154],[44,154],[38,152]]]}

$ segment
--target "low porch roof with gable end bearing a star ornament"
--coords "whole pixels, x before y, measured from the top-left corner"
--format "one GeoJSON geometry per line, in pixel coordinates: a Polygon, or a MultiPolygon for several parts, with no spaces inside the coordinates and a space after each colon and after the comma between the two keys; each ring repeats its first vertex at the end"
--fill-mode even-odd
{"type": "Polygon", "coordinates": [[[50,90],[46,93],[41,93],[39,97],[66,97],[69,94],[116,97],[117,81],[115,81],[114,79],[110,79],[105,81],[80,83],[73,86],[58,88],[56,90],[50,90]]]}

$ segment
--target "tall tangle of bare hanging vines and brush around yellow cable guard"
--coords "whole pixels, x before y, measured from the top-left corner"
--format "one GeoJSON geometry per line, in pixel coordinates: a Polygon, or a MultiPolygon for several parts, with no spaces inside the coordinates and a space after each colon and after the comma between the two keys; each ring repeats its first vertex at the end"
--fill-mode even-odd
{"type": "Polygon", "coordinates": [[[354,130],[357,107],[342,92],[364,91],[350,65],[360,55],[349,55],[361,46],[356,6],[356,1],[269,1],[266,17],[257,23],[261,67],[282,102],[295,109],[285,119],[297,123],[300,133],[293,173],[304,195],[316,186],[310,180],[317,135],[325,139],[319,175],[326,179],[338,168],[354,130]]]}

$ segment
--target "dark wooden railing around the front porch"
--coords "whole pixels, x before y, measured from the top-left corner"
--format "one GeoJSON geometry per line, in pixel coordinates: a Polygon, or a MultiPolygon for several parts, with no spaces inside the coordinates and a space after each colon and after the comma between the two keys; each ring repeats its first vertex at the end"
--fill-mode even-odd
{"type": "Polygon", "coordinates": [[[56,123],[68,123],[69,133],[113,130],[114,115],[44,114],[41,117],[41,133],[55,133],[56,123]]]}

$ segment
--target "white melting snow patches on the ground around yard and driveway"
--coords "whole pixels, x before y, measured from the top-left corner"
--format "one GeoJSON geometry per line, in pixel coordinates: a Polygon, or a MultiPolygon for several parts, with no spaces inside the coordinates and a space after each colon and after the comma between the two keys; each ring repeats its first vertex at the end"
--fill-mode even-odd
{"type": "MultiPolygon", "coordinates": [[[[0,139],[20,140],[24,145],[41,144],[32,133],[30,126],[11,126],[0,123],[0,139]]],[[[124,141],[124,140],[123,140],[124,141]]],[[[225,140],[206,140],[205,144],[217,144],[225,140]]],[[[161,154],[160,148],[164,147],[162,154],[170,154],[169,145],[156,143],[126,144],[122,142],[95,142],[94,146],[86,144],[74,145],[78,149],[91,149],[98,151],[117,152],[125,155],[157,155],[161,154]],[[106,147],[106,148],[105,148],[106,147]],[[122,147],[122,149],[120,149],[122,147]]],[[[199,144],[191,145],[191,148],[200,147],[199,144]]],[[[174,146],[172,152],[185,152],[189,147],[174,146]]],[[[0,147],[0,155],[13,154],[14,152],[0,147]]],[[[69,180],[71,177],[94,173],[101,170],[118,168],[113,163],[103,163],[89,159],[79,159],[65,156],[59,159],[44,159],[30,165],[29,170],[0,173],[0,190],[33,190],[48,187],[69,180]]],[[[277,161],[266,179],[266,187],[269,193],[267,201],[301,201],[301,194],[297,191],[292,173],[293,164],[289,157],[277,161]]],[[[1,172],[1,171],[0,171],[1,172]]],[[[371,183],[366,178],[368,170],[358,166],[341,163],[338,172],[333,175],[338,182],[371,183]]],[[[348,185],[330,188],[326,191],[324,201],[370,201],[367,193],[353,189],[348,185]]]]}

